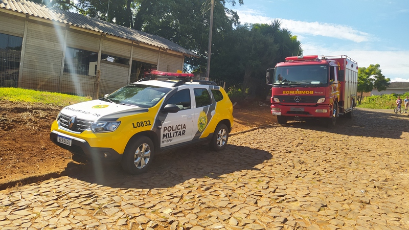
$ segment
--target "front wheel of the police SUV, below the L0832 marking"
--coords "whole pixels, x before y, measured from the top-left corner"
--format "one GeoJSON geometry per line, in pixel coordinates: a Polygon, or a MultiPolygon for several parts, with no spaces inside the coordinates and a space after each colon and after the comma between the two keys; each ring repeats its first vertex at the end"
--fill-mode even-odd
{"type": "Polygon", "coordinates": [[[129,174],[141,174],[152,165],[154,146],[147,136],[133,137],[125,148],[121,166],[129,174]],[[141,157],[142,156],[142,157],[141,157]]]}

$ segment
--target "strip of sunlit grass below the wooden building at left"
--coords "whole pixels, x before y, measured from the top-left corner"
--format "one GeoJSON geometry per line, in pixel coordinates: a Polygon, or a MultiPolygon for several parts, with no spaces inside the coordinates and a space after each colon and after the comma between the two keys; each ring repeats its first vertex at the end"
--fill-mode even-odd
{"type": "Polygon", "coordinates": [[[67,106],[79,102],[89,101],[92,100],[92,98],[38,91],[33,89],[5,87],[0,88],[0,100],[67,106]]]}

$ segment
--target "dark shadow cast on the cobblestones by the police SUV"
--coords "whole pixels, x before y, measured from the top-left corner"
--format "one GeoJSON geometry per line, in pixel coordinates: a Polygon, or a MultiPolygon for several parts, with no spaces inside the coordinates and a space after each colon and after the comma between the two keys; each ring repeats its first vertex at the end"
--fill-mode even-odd
{"type": "Polygon", "coordinates": [[[156,156],[150,170],[141,175],[125,173],[120,164],[93,162],[69,163],[64,174],[112,188],[168,188],[192,178],[219,178],[237,171],[258,170],[255,166],[270,158],[270,153],[248,147],[228,145],[223,151],[214,152],[198,145],[156,156]]]}

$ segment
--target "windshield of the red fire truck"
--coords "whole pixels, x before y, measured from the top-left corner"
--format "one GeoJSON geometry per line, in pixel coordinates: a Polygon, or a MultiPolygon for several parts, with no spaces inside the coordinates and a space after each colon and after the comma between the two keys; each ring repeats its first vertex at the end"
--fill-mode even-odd
{"type": "Polygon", "coordinates": [[[321,85],[328,83],[328,65],[277,66],[274,85],[321,85]]]}

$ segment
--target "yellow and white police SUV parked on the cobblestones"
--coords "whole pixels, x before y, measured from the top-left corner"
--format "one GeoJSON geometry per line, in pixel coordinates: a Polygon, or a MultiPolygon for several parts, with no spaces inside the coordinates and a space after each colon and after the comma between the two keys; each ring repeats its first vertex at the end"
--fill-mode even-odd
{"type": "Polygon", "coordinates": [[[208,141],[222,150],[233,126],[232,102],[216,83],[192,77],[152,71],[104,98],[66,106],[50,139],[73,154],[121,161],[131,174],[145,172],[166,149],[208,141]]]}

